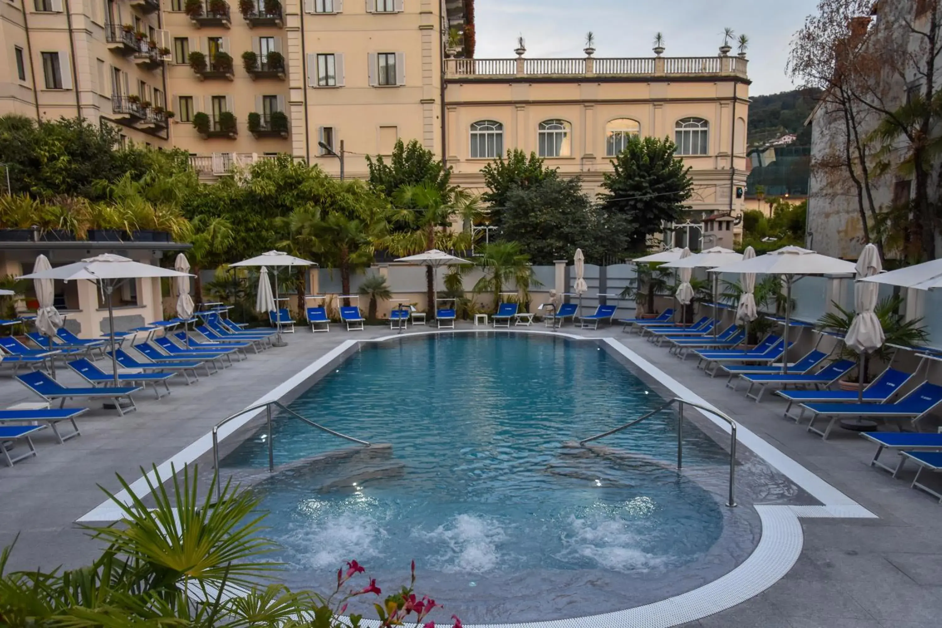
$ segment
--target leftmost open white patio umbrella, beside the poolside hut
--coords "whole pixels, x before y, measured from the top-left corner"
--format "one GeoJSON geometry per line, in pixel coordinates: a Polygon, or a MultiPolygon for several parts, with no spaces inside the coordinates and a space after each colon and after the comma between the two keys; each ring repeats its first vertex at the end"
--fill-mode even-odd
{"type": "Polygon", "coordinates": [[[114,307],[111,304],[111,295],[115,289],[121,287],[124,282],[131,279],[157,278],[157,277],[179,277],[185,274],[171,268],[161,268],[160,266],[151,266],[150,264],[141,264],[132,259],[115,255],[113,253],[104,253],[89,257],[81,262],[50,268],[49,270],[40,270],[31,272],[17,279],[52,279],[63,282],[73,280],[88,280],[94,282],[102,294],[105,295],[105,302],[108,308],[108,336],[111,344],[111,368],[114,373],[114,381],[117,386],[118,381],[118,361],[115,358],[115,316],[114,307]]]}

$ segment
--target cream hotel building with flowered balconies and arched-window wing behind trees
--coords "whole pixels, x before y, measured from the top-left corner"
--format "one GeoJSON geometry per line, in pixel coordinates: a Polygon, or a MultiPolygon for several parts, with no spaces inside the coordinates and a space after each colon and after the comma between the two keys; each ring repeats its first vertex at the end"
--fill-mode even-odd
{"type": "Polygon", "coordinates": [[[0,18],[0,113],[120,124],[187,150],[206,177],[276,153],[365,177],[365,156],[401,138],[469,188],[521,149],[595,192],[641,134],[673,138],[691,167],[691,243],[702,217],[741,210],[749,79],[728,48],[458,58],[447,33],[467,22],[463,0],[3,0],[0,18]]]}

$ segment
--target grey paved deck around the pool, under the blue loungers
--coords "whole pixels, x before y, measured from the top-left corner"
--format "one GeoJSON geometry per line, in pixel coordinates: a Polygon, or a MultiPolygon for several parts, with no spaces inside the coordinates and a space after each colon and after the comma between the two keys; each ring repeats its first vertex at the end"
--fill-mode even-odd
{"type": "MultiPolygon", "coordinates": [[[[459,328],[474,329],[470,324],[459,328]]],[[[423,328],[416,328],[424,331],[423,328]]],[[[519,328],[523,329],[523,328],[519,328]]],[[[544,330],[535,325],[529,330],[544,330]]],[[[707,378],[694,361],[680,362],[620,327],[564,331],[611,337],[690,391],[729,414],[788,457],[877,515],[876,519],[800,521],[804,550],[788,574],[755,598],[685,626],[762,628],[937,628],[942,625],[942,506],[901,479],[869,466],[874,447],[836,430],[827,442],[782,418],[785,403],[769,395],[755,404],[707,378]]],[[[137,412],[118,416],[101,408],[80,419],[82,436],[57,444],[46,430],[35,439],[39,456],[0,467],[0,544],[19,534],[12,569],[75,567],[96,553],[96,542],[73,523],[102,503],[104,493],[133,481],[141,466],[161,463],[193,443],[229,414],[252,405],[342,341],[389,335],[388,328],[312,334],[299,328],[286,347],[251,355],[217,375],[186,386],[171,384],[160,401],[136,395],[137,412]]],[[[63,383],[79,385],[57,367],[63,383]]],[[[0,404],[36,400],[19,382],[0,377],[0,404]]],[[[79,400],[82,401],[82,400],[79,400]]],[[[205,466],[208,460],[201,460],[205,466]]],[[[942,480],[942,478],[938,478],[942,480]]],[[[942,482],[940,482],[942,483],[942,482]]]]}

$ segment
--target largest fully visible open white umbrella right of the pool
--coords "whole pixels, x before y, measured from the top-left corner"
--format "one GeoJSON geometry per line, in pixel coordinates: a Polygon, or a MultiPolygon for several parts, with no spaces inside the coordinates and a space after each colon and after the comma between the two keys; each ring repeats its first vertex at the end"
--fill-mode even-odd
{"type": "Polygon", "coordinates": [[[850,275],[855,268],[851,262],[821,255],[813,250],[801,247],[783,247],[751,260],[742,260],[735,264],[714,268],[709,272],[756,273],[759,275],[781,275],[785,283],[785,354],[782,372],[788,373],[788,326],[791,324],[791,286],[794,282],[809,275],[850,275]]]}

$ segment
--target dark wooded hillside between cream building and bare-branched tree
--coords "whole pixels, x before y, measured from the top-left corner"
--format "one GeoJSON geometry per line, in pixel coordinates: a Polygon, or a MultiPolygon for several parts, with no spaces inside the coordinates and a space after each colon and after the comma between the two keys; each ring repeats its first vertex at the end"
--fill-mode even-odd
{"type": "Polygon", "coordinates": [[[792,89],[766,96],[753,96],[749,105],[749,131],[747,142],[756,146],[765,141],[794,133],[796,145],[811,143],[811,127],[804,121],[815,106],[818,89],[792,89]]]}

